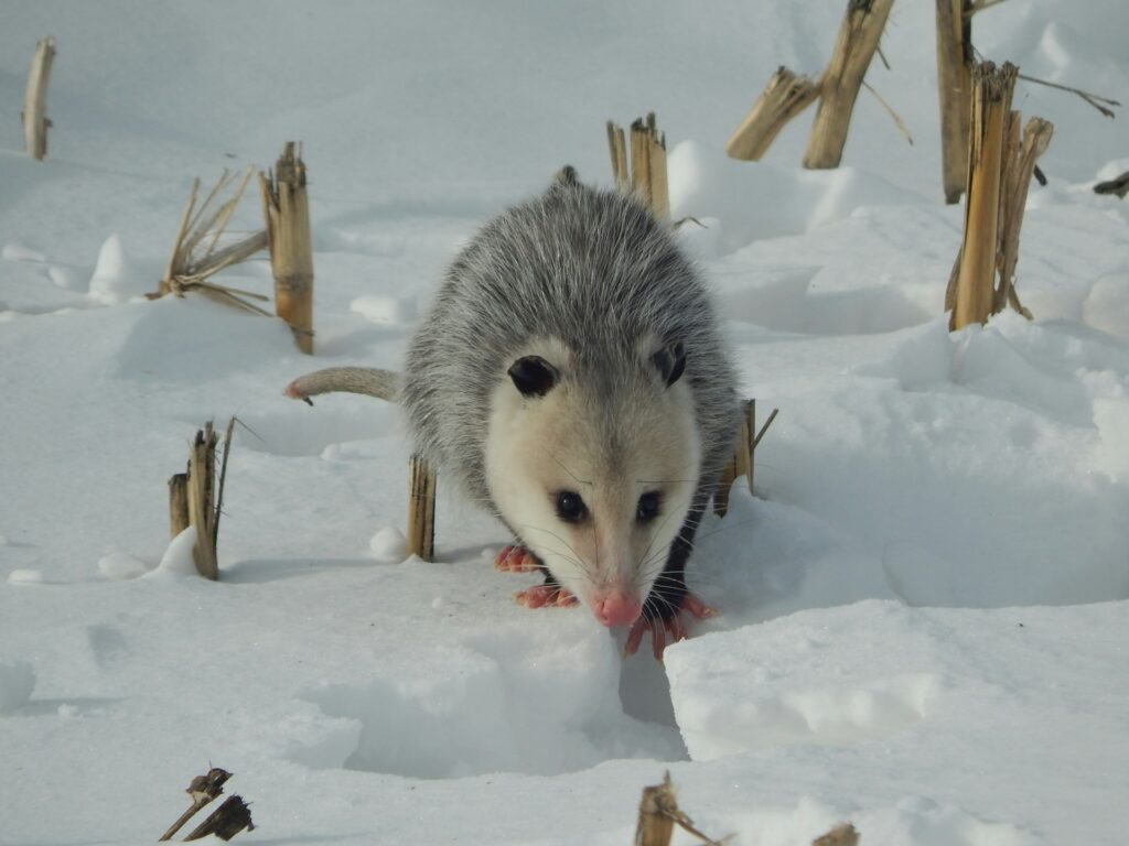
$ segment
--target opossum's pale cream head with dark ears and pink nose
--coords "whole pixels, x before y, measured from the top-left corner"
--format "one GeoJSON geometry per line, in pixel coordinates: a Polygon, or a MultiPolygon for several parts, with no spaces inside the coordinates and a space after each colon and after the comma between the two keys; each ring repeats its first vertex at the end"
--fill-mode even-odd
{"type": "Polygon", "coordinates": [[[642,610],[686,519],[701,440],[681,343],[587,361],[555,341],[499,374],[487,438],[502,519],[606,626],[642,610]]]}

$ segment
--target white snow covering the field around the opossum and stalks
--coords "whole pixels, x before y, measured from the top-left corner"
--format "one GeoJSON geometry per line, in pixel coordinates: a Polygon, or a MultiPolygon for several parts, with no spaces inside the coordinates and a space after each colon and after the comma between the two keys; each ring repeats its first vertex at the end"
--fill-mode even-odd
{"type": "MultiPolygon", "coordinates": [[[[35,39],[59,56],[47,160],[0,127],[0,839],[151,843],[209,763],[247,843],[623,844],[666,769],[744,844],[846,819],[864,843],[1123,839],[1129,214],[1091,187],[1129,169],[1124,116],[1021,83],[1056,124],[1018,265],[1035,320],[949,333],[931,7],[895,3],[868,74],[914,144],[864,94],[823,173],[798,167],[811,113],[762,164],[721,148],[778,64],[819,71],[841,3],[647,8],[9,10],[5,114],[35,39]],[[603,122],[650,108],[743,393],[780,409],[758,495],[738,481],[700,532],[690,581],[720,614],[664,664],[583,609],[516,606],[504,528],[441,478],[437,561],[408,557],[396,408],[282,396],[396,367],[460,244],[564,162],[607,185],[603,122]],[[273,320],[142,297],[192,179],[289,139],[314,359],[273,320]],[[166,482],[231,415],[212,583],[193,530],[168,538],[166,482]]],[[[1127,25],[1122,0],[1013,0],[974,38],[1123,100],[1127,25]]],[[[233,229],[260,226],[248,199],[233,229]]],[[[271,288],[262,259],[218,281],[271,288]]]]}

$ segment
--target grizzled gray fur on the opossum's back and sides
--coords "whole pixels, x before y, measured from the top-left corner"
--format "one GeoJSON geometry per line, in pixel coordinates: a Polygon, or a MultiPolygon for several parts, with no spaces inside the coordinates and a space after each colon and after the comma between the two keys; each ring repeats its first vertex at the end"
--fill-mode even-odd
{"type": "Polygon", "coordinates": [[[408,350],[400,400],[417,448],[472,499],[490,502],[483,444],[491,393],[532,340],[558,338],[599,413],[594,448],[631,438],[639,342],[681,342],[702,439],[695,504],[728,462],[735,376],[718,319],[667,226],[619,192],[559,179],[488,223],[455,258],[408,350]]]}

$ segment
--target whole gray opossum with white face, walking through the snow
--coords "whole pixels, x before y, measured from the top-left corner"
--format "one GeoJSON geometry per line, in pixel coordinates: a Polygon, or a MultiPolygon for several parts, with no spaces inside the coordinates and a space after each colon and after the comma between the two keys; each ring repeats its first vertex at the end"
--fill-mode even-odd
{"type": "Polygon", "coordinates": [[[711,614],[684,571],[732,456],[735,374],[704,284],[638,199],[566,168],[457,255],[402,374],[331,368],[287,393],[333,390],[403,405],[440,477],[517,538],[496,565],[544,571],[518,601],[578,598],[656,656],[681,611],[711,614]]]}

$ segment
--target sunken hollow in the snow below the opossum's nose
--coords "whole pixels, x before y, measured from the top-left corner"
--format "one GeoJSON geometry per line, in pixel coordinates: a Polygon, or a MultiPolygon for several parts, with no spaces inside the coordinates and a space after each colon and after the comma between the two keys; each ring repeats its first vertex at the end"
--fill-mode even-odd
{"type": "Polygon", "coordinates": [[[426,677],[307,690],[303,698],[333,720],[313,746],[288,757],[411,778],[559,775],[619,758],[685,757],[669,726],[623,713],[620,659],[603,632],[562,638],[519,626],[480,636],[446,659],[426,677]],[[356,732],[349,748],[343,730],[356,732]]]}

